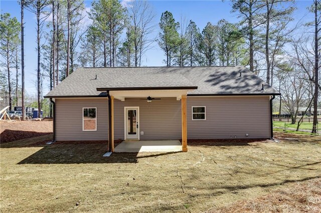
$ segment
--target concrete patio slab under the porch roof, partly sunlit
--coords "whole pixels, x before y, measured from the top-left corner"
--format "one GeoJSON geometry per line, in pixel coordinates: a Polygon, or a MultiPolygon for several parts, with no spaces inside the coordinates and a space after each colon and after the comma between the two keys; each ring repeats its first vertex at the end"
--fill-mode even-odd
{"type": "Polygon", "coordinates": [[[179,140],[139,140],[122,141],[114,152],[176,152],[182,151],[182,143],[179,140]]]}

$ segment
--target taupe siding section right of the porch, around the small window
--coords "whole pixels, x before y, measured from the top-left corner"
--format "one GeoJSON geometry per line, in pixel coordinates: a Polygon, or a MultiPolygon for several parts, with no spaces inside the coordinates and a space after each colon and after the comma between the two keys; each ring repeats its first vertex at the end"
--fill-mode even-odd
{"type": "Polygon", "coordinates": [[[269,96],[188,96],[187,137],[269,138],[269,110],[269,96]],[[192,120],[192,106],[206,106],[206,120],[192,120]]]}

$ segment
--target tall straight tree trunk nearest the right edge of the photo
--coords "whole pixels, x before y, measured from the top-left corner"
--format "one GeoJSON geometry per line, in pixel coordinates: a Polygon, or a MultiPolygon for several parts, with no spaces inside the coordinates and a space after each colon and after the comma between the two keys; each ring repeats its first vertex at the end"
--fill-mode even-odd
{"type": "Polygon", "coordinates": [[[317,125],[317,94],[318,94],[318,66],[319,66],[319,57],[318,57],[318,17],[317,17],[317,0],[314,0],[314,100],[313,100],[313,125],[312,125],[312,133],[316,133],[316,125],[317,125]]]}

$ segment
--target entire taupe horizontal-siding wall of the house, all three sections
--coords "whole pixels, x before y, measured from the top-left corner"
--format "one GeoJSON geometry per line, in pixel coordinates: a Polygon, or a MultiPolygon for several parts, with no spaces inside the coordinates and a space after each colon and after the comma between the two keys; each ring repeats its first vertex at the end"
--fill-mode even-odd
{"type": "MultiPolygon", "coordinates": [[[[56,140],[107,140],[107,98],[56,98],[56,140]],[[82,108],[97,107],[97,130],[82,130],[82,108]]],[[[139,106],[141,140],[181,139],[181,101],[114,100],[114,139],[124,139],[124,107],[139,106]]],[[[270,137],[269,96],[187,97],[188,139],[270,137]],[[206,106],[206,120],[192,120],[192,106],[206,106]],[[248,133],[249,136],[245,134],[248,133]]]]}

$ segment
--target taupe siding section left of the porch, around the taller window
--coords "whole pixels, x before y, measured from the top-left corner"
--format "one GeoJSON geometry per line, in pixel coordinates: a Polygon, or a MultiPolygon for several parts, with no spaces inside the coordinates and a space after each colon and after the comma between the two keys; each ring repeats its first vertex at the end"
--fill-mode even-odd
{"type": "Polygon", "coordinates": [[[107,98],[56,98],[56,140],[108,140],[107,98]],[[97,107],[97,130],[82,130],[83,107],[97,107]]]}

